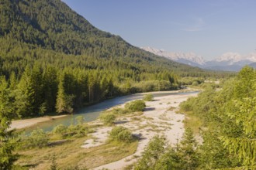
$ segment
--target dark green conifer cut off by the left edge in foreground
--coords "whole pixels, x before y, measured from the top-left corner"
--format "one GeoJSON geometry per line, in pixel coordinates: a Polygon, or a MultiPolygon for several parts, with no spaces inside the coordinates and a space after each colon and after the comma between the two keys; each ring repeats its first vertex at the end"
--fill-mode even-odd
{"type": "Polygon", "coordinates": [[[5,76],[0,76],[0,169],[11,169],[16,155],[12,151],[16,147],[16,140],[13,138],[14,131],[8,131],[12,117],[14,117],[12,97],[8,88],[5,76]]]}

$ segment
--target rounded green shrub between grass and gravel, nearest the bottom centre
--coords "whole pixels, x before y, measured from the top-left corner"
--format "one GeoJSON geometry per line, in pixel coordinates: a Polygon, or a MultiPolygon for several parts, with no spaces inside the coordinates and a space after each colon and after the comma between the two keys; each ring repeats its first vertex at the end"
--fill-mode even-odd
{"type": "Polygon", "coordinates": [[[130,143],[133,141],[133,135],[131,131],[122,126],[117,126],[110,131],[110,138],[116,141],[123,141],[126,143],[130,143]]]}

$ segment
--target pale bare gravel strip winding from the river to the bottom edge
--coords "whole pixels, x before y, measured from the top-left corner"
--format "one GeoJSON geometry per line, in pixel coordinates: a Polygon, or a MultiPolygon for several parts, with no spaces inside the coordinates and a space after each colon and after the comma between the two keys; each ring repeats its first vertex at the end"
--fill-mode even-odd
{"type": "MultiPolygon", "coordinates": [[[[175,145],[181,140],[182,135],[185,131],[182,121],[185,119],[184,114],[176,114],[178,105],[187,100],[189,97],[196,96],[197,94],[184,94],[184,95],[170,95],[164,97],[155,97],[154,101],[146,103],[147,107],[144,114],[137,117],[123,117],[119,120],[118,126],[129,128],[133,131],[133,134],[140,135],[140,140],[137,151],[126,158],[123,158],[117,162],[112,162],[107,165],[94,168],[99,170],[102,168],[108,169],[123,169],[127,165],[131,165],[140,158],[140,155],[144,151],[148,142],[154,135],[164,135],[171,145],[175,145]]],[[[111,128],[99,128],[92,134],[97,140],[94,141],[93,145],[89,141],[85,141],[83,148],[90,148],[94,145],[102,145],[106,141],[107,132],[111,131],[111,128]],[[97,143],[99,141],[99,143],[97,143]]]]}

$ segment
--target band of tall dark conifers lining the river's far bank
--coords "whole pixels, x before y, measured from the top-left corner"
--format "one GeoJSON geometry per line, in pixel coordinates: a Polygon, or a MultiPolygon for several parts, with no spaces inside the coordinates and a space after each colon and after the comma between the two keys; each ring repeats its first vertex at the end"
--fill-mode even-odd
{"type": "Polygon", "coordinates": [[[42,68],[40,63],[26,66],[20,78],[15,72],[8,79],[2,76],[2,84],[7,83],[12,107],[19,117],[37,117],[45,113],[73,113],[74,109],[86,104],[94,104],[100,100],[118,95],[137,93],[145,90],[171,90],[178,88],[178,80],[171,73],[158,73],[148,76],[155,77],[151,81],[140,83],[123,77],[123,82],[116,82],[120,73],[103,70],[64,69],[57,70],[53,66],[42,68]],[[117,77],[116,77],[116,76],[117,77]],[[149,86],[146,88],[146,86],[149,86]]]}

